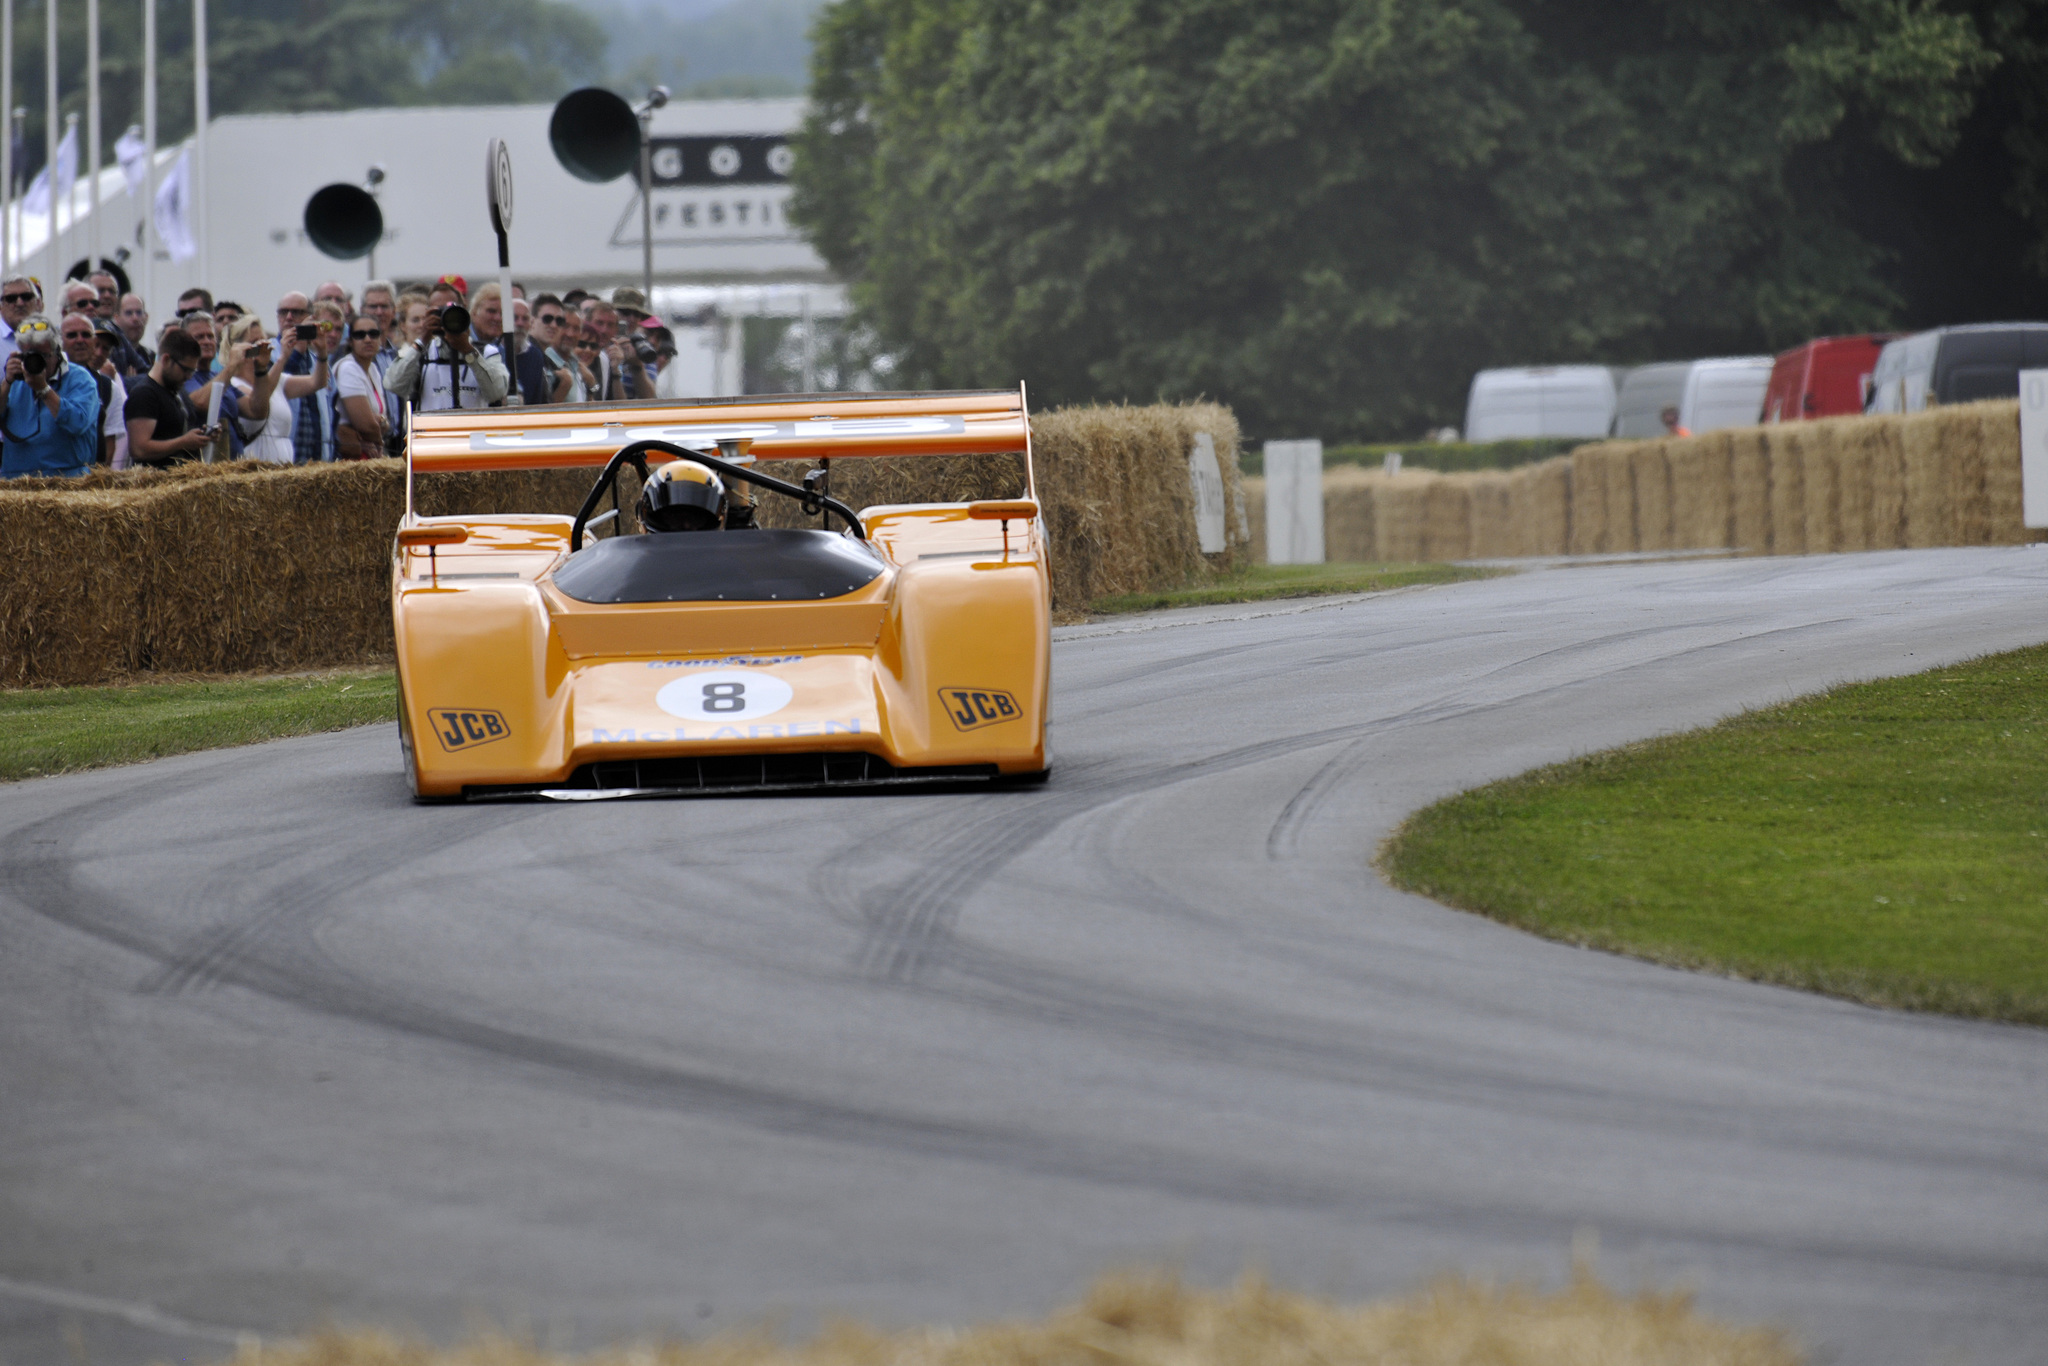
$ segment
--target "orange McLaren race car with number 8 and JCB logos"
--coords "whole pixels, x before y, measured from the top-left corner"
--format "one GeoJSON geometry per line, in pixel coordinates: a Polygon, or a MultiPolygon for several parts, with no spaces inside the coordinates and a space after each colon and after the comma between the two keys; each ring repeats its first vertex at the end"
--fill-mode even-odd
{"type": "Polygon", "coordinates": [[[1022,387],[414,414],[406,463],[391,618],[422,801],[1049,772],[1051,582],[1022,387]],[[1026,471],[1014,502],[854,512],[829,492],[846,457],[1008,453],[1026,471]],[[756,459],[817,469],[797,485],[756,459]],[[627,463],[643,530],[596,539],[627,463]],[[412,512],[414,471],[571,465],[600,469],[573,518],[412,512]],[[758,526],[770,498],[819,526],[758,526]]]}

